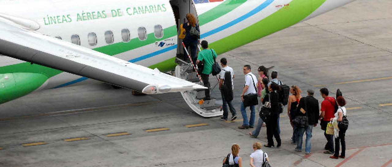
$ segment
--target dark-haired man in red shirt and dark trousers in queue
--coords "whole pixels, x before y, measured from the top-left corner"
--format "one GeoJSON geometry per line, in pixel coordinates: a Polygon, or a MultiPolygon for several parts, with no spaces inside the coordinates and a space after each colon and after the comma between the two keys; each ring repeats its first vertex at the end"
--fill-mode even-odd
{"type": "Polygon", "coordinates": [[[327,144],[325,144],[324,151],[325,154],[334,154],[334,135],[328,135],[325,133],[327,130],[327,124],[331,118],[335,117],[335,98],[328,96],[329,91],[327,88],[321,88],[320,94],[324,98],[324,101],[321,103],[321,114],[320,114],[320,125],[321,129],[324,130],[325,139],[327,139],[327,144]]]}

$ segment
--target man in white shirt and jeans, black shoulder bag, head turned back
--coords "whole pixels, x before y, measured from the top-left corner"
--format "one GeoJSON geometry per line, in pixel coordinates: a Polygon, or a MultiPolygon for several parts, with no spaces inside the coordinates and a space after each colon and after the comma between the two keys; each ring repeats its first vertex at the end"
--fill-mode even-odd
{"type": "Polygon", "coordinates": [[[254,106],[258,105],[256,82],[257,78],[252,72],[250,72],[250,65],[243,66],[243,73],[245,75],[245,86],[241,93],[241,115],[243,118],[242,126],[239,129],[253,128],[255,111],[254,106]],[[256,82],[255,82],[256,81],[256,82]],[[248,115],[246,113],[246,107],[250,108],[250,119],[248,122],[248,115]]]}

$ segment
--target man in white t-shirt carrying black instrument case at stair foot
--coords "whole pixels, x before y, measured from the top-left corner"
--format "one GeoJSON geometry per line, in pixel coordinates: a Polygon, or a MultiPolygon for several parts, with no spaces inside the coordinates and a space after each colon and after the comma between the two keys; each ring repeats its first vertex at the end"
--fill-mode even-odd
{"type": "Polygon", "coordinates": [[[234,82],[233,79],[235,77],[234,75],[234,71],[231,67],[227,66],[227,59],[226,58],[222,58],[220,60],[221,62],[221,72],[219,73],[220,75],[220,81],[219,81],[219,89],[221,90],[221,95],[222,95],[222,109],[223,109],[223,117],[221,117],[220,119],[222,121],[227,121],[227,117],[229,115],[229,112],[227,111],[227,105],[229,105],[230,108],[230,112],[231,112],[231,118],[230,121],[233,121],[234,119],[237,118],[237,112],[236,109],[233,107],[232,105],[232,99],[233,99],[233,90],[234,90],[234,82]],[[226,75],[226,73],[229,73],[228,75],[226,75]],[[226,78],[226,76],[230,77],[230,78],[226,78]],[[223,82],[223,81],[230,81],[230,82],[223,82]],[[225,89],[221,89],[222,86],[225,85],[225,89]],[[229,99],[225,99],[224,95],[230,96],[229,99]]]}

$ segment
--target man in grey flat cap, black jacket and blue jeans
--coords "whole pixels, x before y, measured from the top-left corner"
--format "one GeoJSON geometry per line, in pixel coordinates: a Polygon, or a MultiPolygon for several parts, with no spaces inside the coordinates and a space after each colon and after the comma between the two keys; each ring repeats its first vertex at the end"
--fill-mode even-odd
{"type": "Polygon", "coordinates": [[[313,127],[317,126],[318,123],[318,117],[320,115],[320,110],[319,110],[319,103],[316,98],[313,97],[314,91],[312,89],[308,89],[308,96],[301,98],[299,101],[299,105],[297,107],[297,113],[303,112],[302,110],[305,110],[305,115],[308,118],[308,126],[305,128],[298,128],[298,137],[296,139],[297,141],[297,147],[296,151],[302,151],[302,138],[303,138],[303,133],[306,131],[306,141],[305,141],[305,153],[307,155],[310,154],[310,138],[312,138],[312,129],[313,127]]]}

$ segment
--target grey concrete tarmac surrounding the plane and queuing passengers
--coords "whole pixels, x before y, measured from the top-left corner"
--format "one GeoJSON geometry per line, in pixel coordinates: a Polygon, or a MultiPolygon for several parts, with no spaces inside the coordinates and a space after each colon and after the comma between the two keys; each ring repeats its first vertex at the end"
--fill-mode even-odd
{"type": "MultiPolygon", "coordinates": [[[[298,85],[303,96],[314,89],[320,103],[322,87],[331,96],[339,88],[347,100],[345,159],[322,153],[326,140],[320,126],[313,128],[312,154],[294,151],[285,108],[282,147],[262,148],[272,166],[392,166],[391,8],[390,0],[357,0],[219,55],[236,75],[239,117],[233,122],[200,117],[180,93],[132,96],[100,82],[34,92],[2,104],[0,166],[217,167],[234,143],[241,147],[243,166],[249,166],[252,144],[267,139],[265,127],[258,139],[249,137],[253,129],[237,128],[245,64],[254,73],[260,65],[275,66],[279,80],[298,85]]],[[[216,84],[213,77],[210,81],[216,84]]],[[[214,89],[212,96],[220,93],[214,89]]]]}

